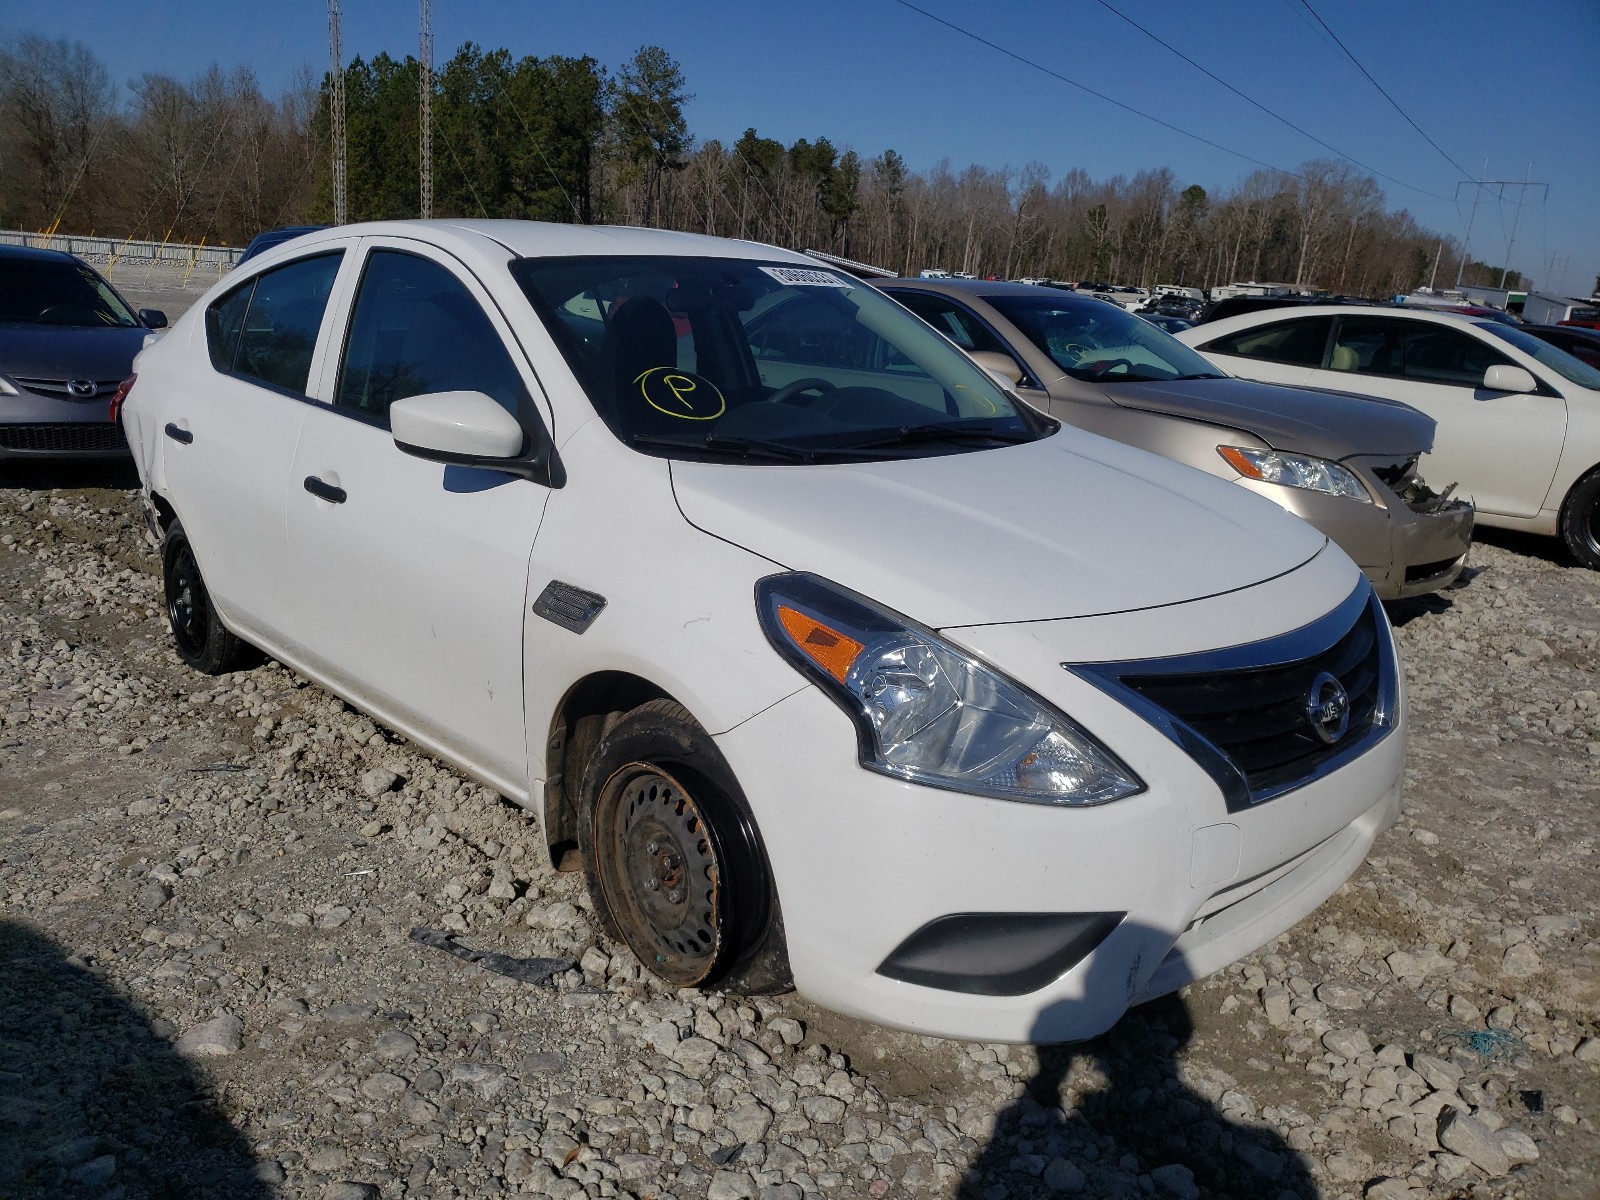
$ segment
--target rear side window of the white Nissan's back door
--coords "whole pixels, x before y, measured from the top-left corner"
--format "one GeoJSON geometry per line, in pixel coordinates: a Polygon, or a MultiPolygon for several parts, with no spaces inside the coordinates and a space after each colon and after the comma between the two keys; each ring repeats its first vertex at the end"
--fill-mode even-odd
{"type": "Polygon", "coordinates": [[[342,253],[317,254],[256,275],[206,310],[211,365],[304,394],[310,357],[342,253]]]}

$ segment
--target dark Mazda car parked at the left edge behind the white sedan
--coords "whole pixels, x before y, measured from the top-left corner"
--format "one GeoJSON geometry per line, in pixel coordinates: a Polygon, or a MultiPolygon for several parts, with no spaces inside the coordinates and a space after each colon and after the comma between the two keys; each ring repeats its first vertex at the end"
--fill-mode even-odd
{"type": "Polygon", "coordinates": [[[112,395],[165,325],[72,254],[0,246],[0,461],[126,454],[112,395]]]}

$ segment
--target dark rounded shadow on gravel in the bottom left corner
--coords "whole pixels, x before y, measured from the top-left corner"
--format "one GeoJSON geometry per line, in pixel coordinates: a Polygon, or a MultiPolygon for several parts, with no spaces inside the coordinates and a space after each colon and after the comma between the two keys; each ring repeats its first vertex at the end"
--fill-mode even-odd
{"type": "Polygon", "coordinates": [[[0,920],[0,1197],[266,1200],[245,1138],[123,998],[0,920]]]}

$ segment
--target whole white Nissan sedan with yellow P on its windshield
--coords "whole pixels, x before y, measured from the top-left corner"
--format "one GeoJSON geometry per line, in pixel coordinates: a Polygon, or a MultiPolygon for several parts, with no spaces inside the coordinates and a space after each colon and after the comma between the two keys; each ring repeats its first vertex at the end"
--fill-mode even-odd
{"type": "Polygon", "coordinates": [[[1338,547],[798,254],[306,234],[122,419],[182,658],[253,643],[530,808],[674,984],[1083,1038],[1395,818],[1395,646],[1338,547]]]}

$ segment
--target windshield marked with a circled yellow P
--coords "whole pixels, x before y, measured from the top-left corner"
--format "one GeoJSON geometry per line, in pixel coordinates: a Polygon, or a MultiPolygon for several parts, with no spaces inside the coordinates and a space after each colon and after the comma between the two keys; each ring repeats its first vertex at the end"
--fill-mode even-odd
{"type": "Polygon", "coordinates": [[[918,317],[834,270],[715,258],[520,259],[595,411],[669,458],[982,450],[1058,426],[918,317]]]}

